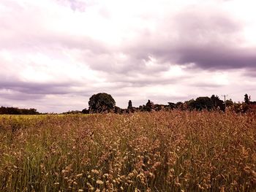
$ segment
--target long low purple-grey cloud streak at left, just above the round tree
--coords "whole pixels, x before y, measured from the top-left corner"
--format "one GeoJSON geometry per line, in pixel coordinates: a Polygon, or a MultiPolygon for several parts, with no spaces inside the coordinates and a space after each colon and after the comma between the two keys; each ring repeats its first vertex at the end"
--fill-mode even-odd
{"type": "Polygon", "coordinates": [[[87,82],[23,82],[13,77],[12,80],[0,81],[0,96],[10,99],[28,100],[40,99],[47,95],[59,96],[86,96],[94,93],[112,91],[116,88],[124,88],[124,83],[112,83],[95,87],[87,82]]]}

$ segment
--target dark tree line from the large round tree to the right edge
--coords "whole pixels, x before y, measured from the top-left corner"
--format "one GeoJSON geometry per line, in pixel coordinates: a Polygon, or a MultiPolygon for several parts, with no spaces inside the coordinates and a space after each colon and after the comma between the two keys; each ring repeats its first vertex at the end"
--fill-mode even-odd
{"type": "Polygon", "coordinates": [[[245,94],[244,102],[236,103],[231,99],[222,101],[219,96],[212,95],[200,96],[197,99],[191,99],[184,102],[168,102],[168,104],[154,104],[148,100],[146,104],[140,105],[139,107],[132,107],[132,101],[128,101],[128,107],[121,109],[116,106],[116,101],[108,93],[97,93],[91,96],[89,99],[89,109],[84,109],[82,113],[106,113],[115,112],[119,114],[129,112],[152,112],[160,110],[219,110],[225,111],[226,109],[233,110],[235,112],[246,112],[256,108],[256,101],[250,101],[250,97],[245,94]]]}

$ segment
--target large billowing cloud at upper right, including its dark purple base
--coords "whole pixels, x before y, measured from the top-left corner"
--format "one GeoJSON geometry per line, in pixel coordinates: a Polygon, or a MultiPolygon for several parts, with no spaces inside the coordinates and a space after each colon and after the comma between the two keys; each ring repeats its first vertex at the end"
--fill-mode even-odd
{"type": "Polygon", "coordinates": [[[148,55],[162,63],[195,64],[201,69],[256,68],[256,47],[241,47],[243,26],[224,12],[190,7],[126,47],[138,61],[148,55]]]}

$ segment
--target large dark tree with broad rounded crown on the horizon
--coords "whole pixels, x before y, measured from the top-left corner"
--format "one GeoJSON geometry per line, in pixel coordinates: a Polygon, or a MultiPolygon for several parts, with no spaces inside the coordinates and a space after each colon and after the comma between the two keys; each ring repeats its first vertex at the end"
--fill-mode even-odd
{"type": "Polygon", "coordinates": [[[110,112],[116,105],[116,101],[108,93],[97,93],[89,99],[89,112],[110,112]]]}

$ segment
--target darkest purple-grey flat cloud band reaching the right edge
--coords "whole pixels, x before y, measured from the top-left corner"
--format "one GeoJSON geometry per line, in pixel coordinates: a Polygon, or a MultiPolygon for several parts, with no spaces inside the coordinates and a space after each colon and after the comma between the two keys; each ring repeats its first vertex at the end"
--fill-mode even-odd
{"type": "Polygon", "coordinates": [[[195,63],[203,69],[256,67],[256,49],[230,47],[181,47],[176,50],[179,64],[195,63]]]}

